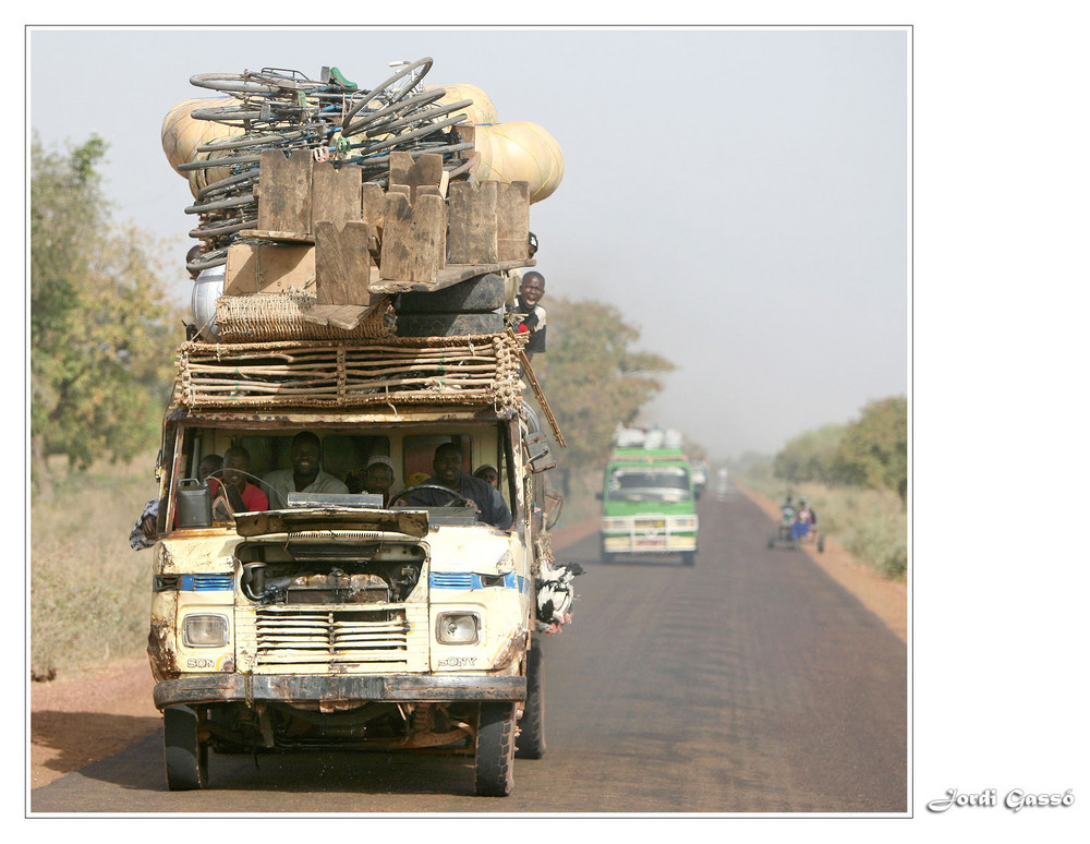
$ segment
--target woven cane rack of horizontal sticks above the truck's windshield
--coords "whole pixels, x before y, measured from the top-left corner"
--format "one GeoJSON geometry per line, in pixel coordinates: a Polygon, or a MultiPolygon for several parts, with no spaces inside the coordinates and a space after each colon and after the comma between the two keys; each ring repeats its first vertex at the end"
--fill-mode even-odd
{"type": "Polygon", "coordinates": [[[315,340],[184,342],[175,399],[182,407],[368,407],[522,401],[513,334],[315,340]]]}

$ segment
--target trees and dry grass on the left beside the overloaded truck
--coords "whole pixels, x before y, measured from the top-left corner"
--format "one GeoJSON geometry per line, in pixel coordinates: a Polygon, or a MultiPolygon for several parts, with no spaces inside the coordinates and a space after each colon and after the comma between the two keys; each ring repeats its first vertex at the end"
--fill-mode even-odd
{"type": "Polygon", "coordinates": [[[156,492],[183,339],[166,248],[111,217],[106,152],[94,136],[32,141],[29,667],[43,679],[144,649],[150,552],[129,531],[156,492]]]}

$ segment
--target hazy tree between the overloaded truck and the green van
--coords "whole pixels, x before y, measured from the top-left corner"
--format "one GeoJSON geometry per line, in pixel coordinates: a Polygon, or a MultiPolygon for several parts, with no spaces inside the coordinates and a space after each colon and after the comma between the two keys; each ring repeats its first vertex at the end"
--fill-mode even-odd
{"type": "Polygon", "coordinates": [[[533,365],[568,444],[564,463],[602,466],[617,423],[637,418],[674,364],[633,349],[639,328],[605,302],[549,298],[548,325],[548,352],[533,365]]]}

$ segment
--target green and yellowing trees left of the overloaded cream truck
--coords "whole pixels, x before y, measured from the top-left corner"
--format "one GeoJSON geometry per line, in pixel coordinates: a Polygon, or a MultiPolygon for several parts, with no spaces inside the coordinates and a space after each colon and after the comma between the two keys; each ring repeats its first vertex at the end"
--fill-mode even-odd
{"type": "Polygon", "coordinates": [[[155,442],[169,395],[179,314],[162,246],[116,228],[93,136],[65,152],[31,150],[31,446],[37,489],[46,458],[83,469],[129,459],[155,442]]]}

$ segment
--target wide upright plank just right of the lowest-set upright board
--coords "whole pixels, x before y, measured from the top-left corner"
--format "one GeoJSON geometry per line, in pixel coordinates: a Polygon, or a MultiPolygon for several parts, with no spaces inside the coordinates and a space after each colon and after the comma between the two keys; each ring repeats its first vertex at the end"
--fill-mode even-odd
{"type": "Polygon", "coordinates": [[[388,191],[379,262],[383,280],[434,282],[446,263],[446,228],[441,196],[421,194],[411,203],[403,193],[388,191]]]}

